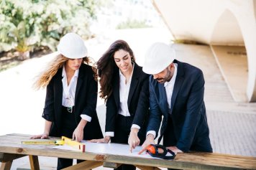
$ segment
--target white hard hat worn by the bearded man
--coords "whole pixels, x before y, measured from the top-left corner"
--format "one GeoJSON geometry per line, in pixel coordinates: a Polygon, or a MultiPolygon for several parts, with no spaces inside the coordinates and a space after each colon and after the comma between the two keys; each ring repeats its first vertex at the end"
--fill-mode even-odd
{"type": "Polygon", "coordinates": [[[155,42],[147,49],[143,72],[155,75],[175,60],[175,50],[163,42],[155,42]]]}

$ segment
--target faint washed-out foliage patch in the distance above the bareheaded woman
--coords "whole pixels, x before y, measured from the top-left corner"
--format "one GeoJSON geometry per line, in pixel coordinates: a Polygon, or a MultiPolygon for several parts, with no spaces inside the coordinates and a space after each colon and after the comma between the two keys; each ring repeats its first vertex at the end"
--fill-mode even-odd
{"type": "Polygon", "coordinates": [[[147,28],[150,27],[146,24],[146,21],[138,21],[136,19],[127,19],[126,22],[122,22],[116,26],[116,29],[134,29],[134,28],[147,28]]]}

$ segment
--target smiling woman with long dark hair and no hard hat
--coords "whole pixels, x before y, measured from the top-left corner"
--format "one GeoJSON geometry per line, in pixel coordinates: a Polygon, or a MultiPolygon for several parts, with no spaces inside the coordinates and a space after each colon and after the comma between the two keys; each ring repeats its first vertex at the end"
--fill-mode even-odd
{"type": "MultiPolygon", "coordinates": [[[[149,75],[135,62],[127,42],[117,40],[97,62],[100,97],[106,101],[105,138],[101,143],[129,143],[129,149],[145,141],[149,110],[149,75]]],[[[122,165],[118,169],[136,169],[122,165]]]]}

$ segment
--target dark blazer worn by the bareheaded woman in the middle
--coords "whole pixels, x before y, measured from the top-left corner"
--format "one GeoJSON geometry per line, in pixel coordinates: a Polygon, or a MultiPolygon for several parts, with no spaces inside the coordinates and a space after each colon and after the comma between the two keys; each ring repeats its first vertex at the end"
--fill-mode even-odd
{"type": "MultiPolygon", "coordinates": [[[[149,112],[149,90],[148,78],[142,67],[134,63],[132,82],[129,89],[128,109],[133,117],[132,124],[141,128],[147,126],[147,117],[149,112]]],[[[113,93],[106,100],[106,128],[105,131],[114,131],[116,116],[118,115],[120,98],[119,98],[119,71],[116,71],[113,77],[113,93]]]]}

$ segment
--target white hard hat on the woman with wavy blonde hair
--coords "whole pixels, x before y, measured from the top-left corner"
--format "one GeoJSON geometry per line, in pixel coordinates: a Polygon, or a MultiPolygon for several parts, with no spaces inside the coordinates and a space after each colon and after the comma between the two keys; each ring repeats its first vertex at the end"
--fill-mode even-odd
{"type": "Polygon", "coordinates": [[[70,59],[83,58],[88,55],[83,39],[76,33],[65,34],[58,44],[58,52],[70,59]]]}

